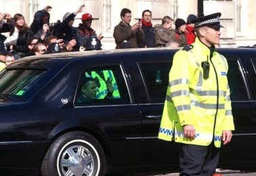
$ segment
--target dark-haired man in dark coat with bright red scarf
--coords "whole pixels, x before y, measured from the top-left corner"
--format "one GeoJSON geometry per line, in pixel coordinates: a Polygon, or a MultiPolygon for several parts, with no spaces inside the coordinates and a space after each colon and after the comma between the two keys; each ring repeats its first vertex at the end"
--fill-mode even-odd
{"type": "Polygon", "coordinates": [[[144,10],[142,13],[141,23],[145,39],[141,43],[139,43],[139,47],[156,47],[156,30],[152,27],[151,14],[152,13],[149,9],[144,10]]]}

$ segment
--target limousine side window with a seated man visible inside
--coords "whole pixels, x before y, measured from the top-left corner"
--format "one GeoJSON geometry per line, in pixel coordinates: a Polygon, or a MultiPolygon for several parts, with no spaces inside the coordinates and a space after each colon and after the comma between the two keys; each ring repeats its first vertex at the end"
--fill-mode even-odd
{"type": "Polygon", "coordinates": [[[128,91],[119,67],[85,70],[81,74],[75,104],[129,104],[128,91]]]}

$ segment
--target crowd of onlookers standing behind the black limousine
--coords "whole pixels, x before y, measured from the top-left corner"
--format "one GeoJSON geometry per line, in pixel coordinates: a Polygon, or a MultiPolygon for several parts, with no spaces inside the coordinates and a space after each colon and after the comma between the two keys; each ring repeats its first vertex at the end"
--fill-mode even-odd
{"type": "MultiPolygon", "coordinates": [[[[84,11],[81,5],[77,11],[67,12],[62,22],[58,20],[50,25],[51,6],[47,6],[35,13],[31,26],[26,24],[22,14],[0,13],[0,67],[25,56],[41,55],[43,53],[56,53],[62,51],[85,51],[101,49],[100,40],[103,35],[96,35],[91,28],[91,14],[83,14],[78,27],[73,26],[75,16],[84,11]],[[9,35],[3,35],[9,32],[9,35]],[[10,59],[11,58],[11,59],[10,59]]],[[[191,21],[196,16],[189,15],[187,22],[170,16],[162,18],[162,24],[152,26],[151,11],[143,11],[139,22],[130,26],[131,11],[124,8],[120,14],[121,22],[115,26],[113,37],[116,49],[136,47],[183,47],[194,42],[194,24],[191,21]],[[175,26],[174,26],[175,23],[175,26]]]]}

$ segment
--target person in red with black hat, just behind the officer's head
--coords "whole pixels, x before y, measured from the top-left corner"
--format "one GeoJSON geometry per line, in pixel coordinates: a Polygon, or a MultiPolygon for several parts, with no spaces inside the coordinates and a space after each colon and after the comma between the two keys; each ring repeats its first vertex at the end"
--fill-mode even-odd
{"type": "Polygon", "coordinates": [[[194,32],[194,26],[195,24],[192,24],[191,22],[193,20],[196,20],[196,16],[194,14],[190,14],[187,17],[187,24],[186,24],[186,32],[185,32],[185,36],[187,39],[187,45],[191,45],[192,43],[194,43],[195,39],[196,39],[196,35],[194,32]]]}

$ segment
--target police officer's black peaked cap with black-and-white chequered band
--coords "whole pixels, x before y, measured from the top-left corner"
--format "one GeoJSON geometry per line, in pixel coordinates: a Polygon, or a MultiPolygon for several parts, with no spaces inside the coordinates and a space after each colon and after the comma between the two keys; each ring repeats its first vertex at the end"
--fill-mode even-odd
{"type": "Polygon", "coordinates": [[[208,16],[201,16],[192,21],[195,24],[195,28],[201,26],[215,26],[217,28],[222,28],[220,24],[219,18],[221,17],[221,13],[215,13],[208,16]]]}

